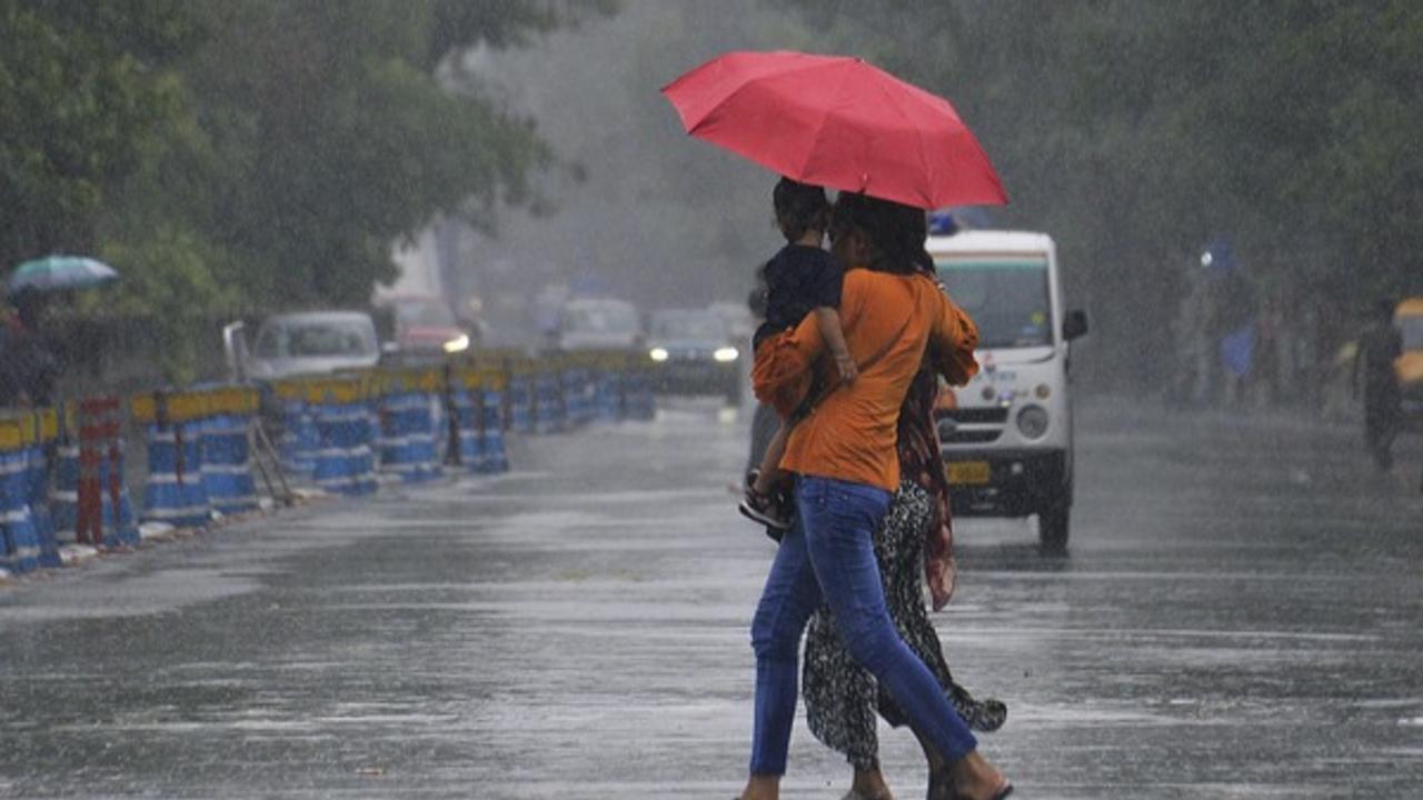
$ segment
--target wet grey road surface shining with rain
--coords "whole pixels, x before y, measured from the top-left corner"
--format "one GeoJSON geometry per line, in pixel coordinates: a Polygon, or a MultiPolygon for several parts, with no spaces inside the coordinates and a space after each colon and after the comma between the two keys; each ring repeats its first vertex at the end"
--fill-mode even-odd
{"type": "MultiPolygon", "coordinates": [[[[1423,797],[1423,468],[1352,430],[1080,420],[1072,552],[959,525],[935,619],[1026,799],[1423,797]]],[[[0,588],[0,796],[709,797],[743,779],[771,547],[744,427],[518,440],[519,471],[0,588]]],[[[908,735],[882,732],[902,799],[908,735]]],[[[835,799],[797,723],[785,796],[835,799]]]]}

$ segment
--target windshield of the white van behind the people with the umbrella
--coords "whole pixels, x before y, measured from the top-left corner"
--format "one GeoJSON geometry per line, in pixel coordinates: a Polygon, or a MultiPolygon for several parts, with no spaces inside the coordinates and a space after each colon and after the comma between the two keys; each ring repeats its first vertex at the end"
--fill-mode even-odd
{"type": "Polygon", "coordinates": [[[936,256],[949,296],[979,326],[979,347],[1042,347],[1053,343],[1047,258],[936,256]]]}

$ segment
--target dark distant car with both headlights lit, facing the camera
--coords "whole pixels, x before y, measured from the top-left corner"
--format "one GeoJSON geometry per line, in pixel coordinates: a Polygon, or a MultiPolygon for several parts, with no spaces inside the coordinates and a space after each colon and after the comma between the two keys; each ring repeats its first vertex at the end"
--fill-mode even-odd
{"type": "Polygon", "coordinates": [[[741,396],[741,347],[726,319],[712,309],[665,309],[647,326],[647,357],[659,391],[741,396]]]}

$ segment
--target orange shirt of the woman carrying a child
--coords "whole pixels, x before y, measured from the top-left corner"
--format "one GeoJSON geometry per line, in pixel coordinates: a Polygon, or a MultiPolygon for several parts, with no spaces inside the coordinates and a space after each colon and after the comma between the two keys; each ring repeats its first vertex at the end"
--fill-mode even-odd
{"type": "MultiPolygon", "coordinates": [[[[962,386],[978,373],[973,349],[978,326],[924,275],[888,275],[868,269],[845,273],[840,300],[845,344],[859,377],[831,390],[810,416],[791,428],[781,468],[875,485],[899,487],[895,424],[909,381],[925,359],[949,383],[962,386]]],[[[810,369],[825,344],[814,316],[777,343],[781,356],[797,356],[810,369]]],[[[828,383],[838,381],[830,367],[828,383]]],[[[763,387],[758,384],[757,391],[763,387]]]]}

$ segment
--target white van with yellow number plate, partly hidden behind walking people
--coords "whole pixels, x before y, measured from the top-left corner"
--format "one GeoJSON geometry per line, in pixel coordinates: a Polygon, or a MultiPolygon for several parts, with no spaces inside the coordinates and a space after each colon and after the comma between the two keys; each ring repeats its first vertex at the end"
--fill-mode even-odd
{"type": "Polygon", "coordinates": [[[941,393],[935,419],[953,514],[1037,515],[1044,549],[1067,545],[1073,495],[1072,340],[1057,248],[1046,233],[931,235],[939,279],[979,326],[979,374],[941,393]]]}

